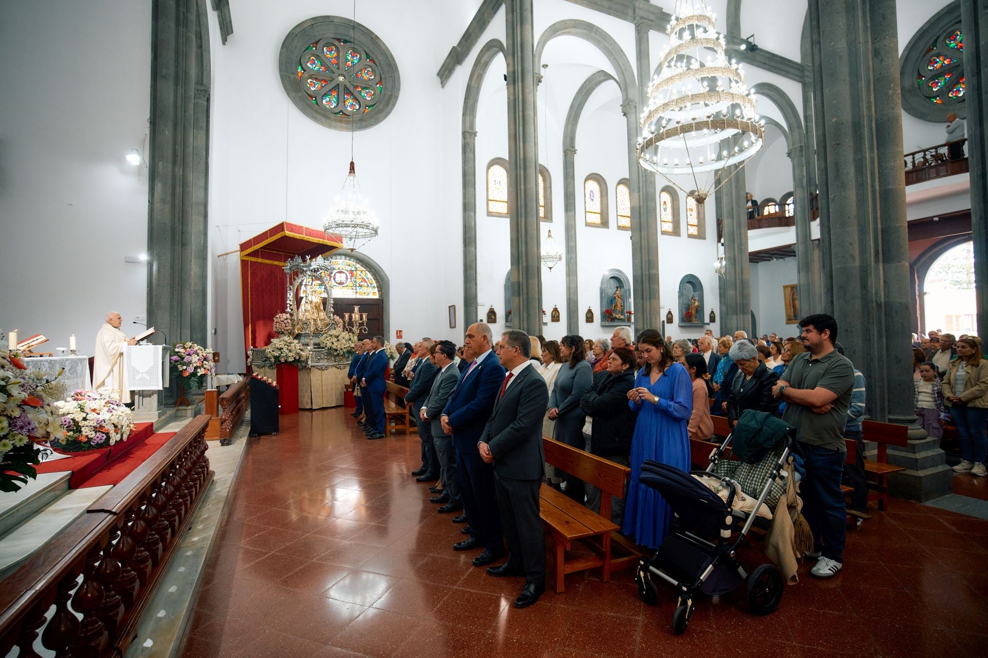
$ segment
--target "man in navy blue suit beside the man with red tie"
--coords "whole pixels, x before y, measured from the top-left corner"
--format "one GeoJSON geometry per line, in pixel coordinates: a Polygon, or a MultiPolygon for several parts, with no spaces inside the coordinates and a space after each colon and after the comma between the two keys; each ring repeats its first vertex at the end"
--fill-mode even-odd
{"type": "Polygon", "coordinates": [[[504,555],[504,532],[497,506],[494,467],[480,457],[477,442],[490,418],[504,382],[504,367],[491,349],[491,329],[484,323],[470,325],[463,339],[463,358],[470,362],[443,409],[443,432],[453,435],[456,473],[466,520],[474,535],[453,546],[456,550],[481,548],[474,566],[485,566],[504,555]]]}

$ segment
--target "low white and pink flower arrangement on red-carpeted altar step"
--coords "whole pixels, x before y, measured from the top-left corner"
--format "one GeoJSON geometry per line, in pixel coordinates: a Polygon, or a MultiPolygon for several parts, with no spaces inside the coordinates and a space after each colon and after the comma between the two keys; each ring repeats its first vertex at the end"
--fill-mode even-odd
{"type": "Polygon", "coordinates": [[[77,390],[70,400],[55,402],[61,413],[61,431],[52,439],[52,447],[59,452],[81,453],[126,441],[133,427],[130,409],[108,393],[109,389],[77,390]]]}

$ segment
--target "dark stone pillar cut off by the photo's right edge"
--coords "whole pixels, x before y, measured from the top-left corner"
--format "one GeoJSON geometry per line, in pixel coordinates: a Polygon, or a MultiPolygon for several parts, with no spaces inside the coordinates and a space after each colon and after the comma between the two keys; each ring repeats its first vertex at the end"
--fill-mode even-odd
{"type": "Polygon", "coordinates": [[[974,286],[978,333],[988,332],[988,16],[978,0],[960,0],[964,29],[964,75],[967,76],[967,162],[971,181],[971,237],[974,239],[974,286]]]}

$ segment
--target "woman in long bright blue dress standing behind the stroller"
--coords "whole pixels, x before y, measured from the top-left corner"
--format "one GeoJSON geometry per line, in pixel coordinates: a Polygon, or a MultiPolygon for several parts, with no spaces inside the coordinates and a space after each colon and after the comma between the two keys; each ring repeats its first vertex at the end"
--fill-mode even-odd
{"type": "Polygon", "coordinates": [[[638,349],[645,365],[627,394],[638,419],[631,439],[631,480],[621,531],[639,546],[659,548],[669,533],[672,511],[662,495],[641,484],[638,476],[645,460],[690,470],[687,425],[693,413],[693,382],[686,368],[673,361],[669,346],[655,329],[638,335],[638,349]]]}

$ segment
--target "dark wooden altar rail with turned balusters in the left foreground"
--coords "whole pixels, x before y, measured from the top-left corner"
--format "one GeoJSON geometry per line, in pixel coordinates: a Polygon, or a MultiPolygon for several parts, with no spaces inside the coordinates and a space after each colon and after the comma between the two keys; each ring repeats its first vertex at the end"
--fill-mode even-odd
{"type": "Polygon", "coordinates": [[[212,479],[208,421],[191,420],[3,581],[0,655],[37,656],[39,634],[56,656],[124,655],[212,479]]]}

